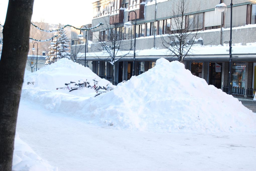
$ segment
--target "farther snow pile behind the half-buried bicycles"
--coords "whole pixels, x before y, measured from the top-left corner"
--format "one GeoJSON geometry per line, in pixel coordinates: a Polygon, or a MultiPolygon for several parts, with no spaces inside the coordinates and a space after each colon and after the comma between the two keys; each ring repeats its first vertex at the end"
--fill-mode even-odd
{"type": "Polygon", "coordinates": [[[94,74],[88,67],[84,67],[78,63],[73,62],[67,58],[62,58],[57,62],[46,65],[40,68],[40,70],[27,73],[25,72],[24,88],[29,88],[31,85],[27,85],[27,82],[34,82],[34,88],[40,88],[44,90],[56,90],[57,87],[65,87],[65,83],[89,81],[93,86],[93,80],[100,80],[99,85],[106,86],[110,83],[108,80],[101,79],[94,74]]]}

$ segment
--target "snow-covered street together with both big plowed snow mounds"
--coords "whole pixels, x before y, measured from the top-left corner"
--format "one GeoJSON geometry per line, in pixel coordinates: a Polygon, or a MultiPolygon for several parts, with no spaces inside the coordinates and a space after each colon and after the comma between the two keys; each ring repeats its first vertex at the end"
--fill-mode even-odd
{"type": "Polygon", "coordinates": [[[56,90],[93,78],[109,83],[68,59],[26,72],[17,132],[48,170],[256,168],[256,114],[183,64],[161,58],[97,97],[87,88],[56,90]]]}

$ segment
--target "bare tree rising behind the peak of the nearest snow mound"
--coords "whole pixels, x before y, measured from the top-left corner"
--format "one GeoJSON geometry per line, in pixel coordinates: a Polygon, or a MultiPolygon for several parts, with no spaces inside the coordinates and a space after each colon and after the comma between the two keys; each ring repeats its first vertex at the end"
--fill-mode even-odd
{"type": "Polygon", "coordinates": [[[196,43],[196,36],[202,27],[202,13],[186,15],[189,8],[189,0],[177,0],[173,5],[168,34],[162,35],[162,43],[172,57],[177,57],[179,62],[188,56],[191,47],[196,43]]]}

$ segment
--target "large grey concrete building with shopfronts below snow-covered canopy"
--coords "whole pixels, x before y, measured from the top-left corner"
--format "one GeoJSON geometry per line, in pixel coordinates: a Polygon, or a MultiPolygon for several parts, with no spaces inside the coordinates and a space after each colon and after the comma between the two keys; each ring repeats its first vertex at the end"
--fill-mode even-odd
{"type": "MultiPolygon", "coordinates": [[[[93,3],[94,18],[92,27],[102,22],[104,25],[92,30],[92,44],[87,53],[87,60],[92,64],[92,71],[108,80],[112,80],[112,65],[109,62],[102,61],[107,59],[107,55],[95,57],[95,54],[104,51],[101,42],[109,43],[109,30],[118,30],[123,33],[120,51],[134,50],[136,37],[136,61],[135,75],[139,75],[148,69],[154,67],[158,58],[164,57],[169,61],[177,60],[174,54],[145,55],[140,51],[155,48],[165,49],[163,38],[167,35],[178,33],[174,27],[175,20],[181,15],[178,14],[179,0],[100,0],[93,3]],[[128,20],[130,11],[136,12],[136,30],[135,12],[130,13],[132,20],[132,29],[124,28],[124,23],[128,20]],[[110,19],[112,18],[112,19],[110,19]]],[[[230,41],[230,0],[224,0],[227,5],[226,12],[215,12],[215,6],[219,0],[190,0],[185,1],[186,11],[184,13],[184,28],[189,24],[193,25],[190,29],[191,35],[195,35],[195,43],[201,46],[225,45],[230,41]]],[[[231,67],[231,87],[234,95],[252,97],[256,89],[256,50],[248,48],[248,52],[240,53],[236,51],[236,45],[249,45],[256,42],[256,1],[236,0],[233,1],[232,11],[232,49],[233,58],[231,67]]],[[[179,19],[179,18],[178,18],[179,19]]],[[[177,21],[177,20],[176,20],[177,21]]],[[[183,26],[182,26],[183,27],[183,26]]],[[[177,40],[174,40],[177,43],[177,40]]],[[[178,42],[179,43],[179,42],[178,42]]],[[[189,43],[188,43],[189,44],[189,43]]],[[[172,41],[170,42],[172,45],[172,41]]],[[[226,50],[229,49],[226,45],[226,50]]],[[[223,46],[222,46],[223,47],[223,46]]],[[[112,47],[111,47],[112,48],[112,47]]],[[[218,50],[217,50],[218,51],[218,50]]],[[[133,53],[126,55],[115,63],[114,83],[117,84],[123,80],[131,78],[133,70],[133,53]]],[[[82,56],[82,54],[80,54],[82,56]]],[[[217,88],[227,92],[229,76],[229,52],[212,53],[193,53],[182,61],[185,67],[194,75],[206,80],[217,88]]]]}

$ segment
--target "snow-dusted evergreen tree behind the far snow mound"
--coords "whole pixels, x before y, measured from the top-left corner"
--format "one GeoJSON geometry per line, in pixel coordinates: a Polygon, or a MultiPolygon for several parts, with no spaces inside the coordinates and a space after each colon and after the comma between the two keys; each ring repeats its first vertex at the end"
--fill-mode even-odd
{"type": "Polygon", "coordinates": [[[66,31],[61,29],[61,24],[58,26],[59,31],[56,32],[58,39],[53,40],[55,43],[52,47],[50,46],[50,51],[48,52],[48,57],[46,58],[45,64],[52,64],[56,62],[56,42],[57,42],[57,60],[61,58],[70,59],[70,50],[69,50],[69,39],[67,38],[66,31]],[[57,41],[56,41],[57,40],[57,41]]]}

